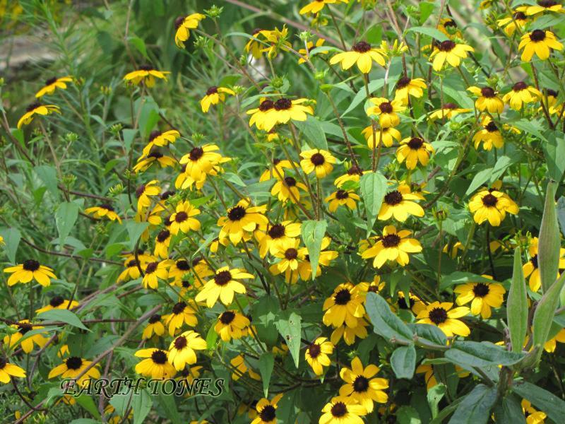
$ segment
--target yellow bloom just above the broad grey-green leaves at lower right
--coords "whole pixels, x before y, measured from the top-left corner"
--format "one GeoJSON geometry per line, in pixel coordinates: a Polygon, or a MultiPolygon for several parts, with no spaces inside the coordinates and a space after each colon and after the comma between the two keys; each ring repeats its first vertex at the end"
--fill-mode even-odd
{"type": "Polygon", "coordinates": [[[470,329],[463,321],[458,318],[469,314],[469,308],[465,306],[453,307],[450,302],[433,302],[417,314],[418,324],[432,324],[438,326],[448,337],[457,334],[458,336],[468,336],[470,329]]]}

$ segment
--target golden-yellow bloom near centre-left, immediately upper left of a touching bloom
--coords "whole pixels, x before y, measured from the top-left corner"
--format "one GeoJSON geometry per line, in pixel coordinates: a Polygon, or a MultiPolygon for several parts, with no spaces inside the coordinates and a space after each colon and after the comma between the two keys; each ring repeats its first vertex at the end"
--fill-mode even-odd
{"type": "Polygon", "coordinates": [[[220,230],[220,238],[230,238],[230,242],[234,245],[239,243],[244,232],[252,232],[257,227],[266,227],[268,219],[263,213],[266,212],[266,206],[249,206],[249,202],[240,200],[237,205],[227,210],[226,216],[218,219],[218,225],[222,227],[220,230]]]}

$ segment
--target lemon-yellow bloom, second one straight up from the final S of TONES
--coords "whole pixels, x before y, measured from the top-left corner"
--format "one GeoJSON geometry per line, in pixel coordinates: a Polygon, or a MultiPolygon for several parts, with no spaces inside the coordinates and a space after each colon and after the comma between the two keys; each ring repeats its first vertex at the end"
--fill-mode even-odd
{"type": "Polygon", "coordinates": [[[254,277],[243,269],[230,269],[224,266],[216,271],[214,278],[204,284],[195,300],[196,302],[206,301],[206,306],[213,307],[219,298],[224,305],[230,305],[234,300],[234,293],[246,292],[245,286],[237,281],[244,278],[254,277]]]}

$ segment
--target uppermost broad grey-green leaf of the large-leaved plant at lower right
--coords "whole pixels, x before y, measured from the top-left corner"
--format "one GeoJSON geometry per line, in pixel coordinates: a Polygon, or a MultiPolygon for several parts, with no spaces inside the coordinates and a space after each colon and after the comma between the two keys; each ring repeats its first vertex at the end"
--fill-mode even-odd
{"type": "Polygon", "coordinates": [[[374,332],[387,339],[396,338],[404,342],[412,342],[414,334],[402,319],[391,311],[390,305],[376,293],[367,293],[365,310],[371,319],[374,332]]]}

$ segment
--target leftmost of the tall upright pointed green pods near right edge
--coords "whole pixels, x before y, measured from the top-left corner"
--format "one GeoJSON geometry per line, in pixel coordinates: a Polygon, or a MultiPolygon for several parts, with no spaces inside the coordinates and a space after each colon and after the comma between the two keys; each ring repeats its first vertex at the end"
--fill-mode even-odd
{"type": "Polygon", "coordinates": [[[513,352],[521,352],[528,331],[528,294],[525,287],[520,247],[514,251],[514,270],[506,301],[506,317],[513,352]]]}

